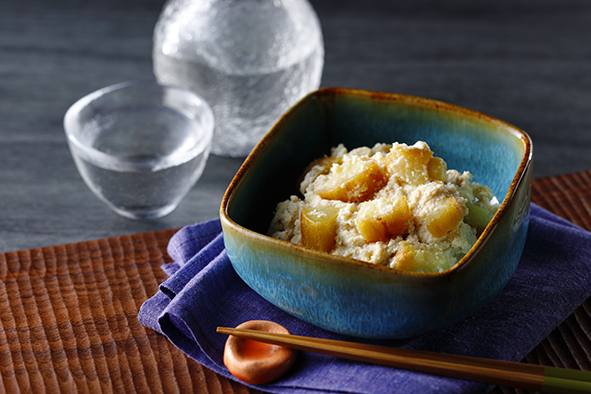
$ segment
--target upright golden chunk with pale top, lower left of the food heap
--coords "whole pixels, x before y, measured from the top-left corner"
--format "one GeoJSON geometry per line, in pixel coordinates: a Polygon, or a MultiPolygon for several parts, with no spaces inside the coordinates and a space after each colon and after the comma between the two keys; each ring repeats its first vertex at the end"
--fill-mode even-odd
{"type": "Polygon", "coordinates": [[[302,245],[330,252],[336,243],[339,210],[330,206],[305,207],[300,214],[302,245]]]}

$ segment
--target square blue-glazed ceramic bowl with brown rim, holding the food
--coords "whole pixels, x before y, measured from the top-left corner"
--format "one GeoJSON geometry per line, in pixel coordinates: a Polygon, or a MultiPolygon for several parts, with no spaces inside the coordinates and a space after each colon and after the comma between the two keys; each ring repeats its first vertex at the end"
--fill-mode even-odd
{"type": "Polygon", "coordinates": [[[529,223],[532,157],[525,132],[478,112],[418,97],[321,89],[279,119],[228,187],[220,209],[228,256],[254,291],[309,323],[366,338],[421,335],[468,317],[513,275],[529,223]],[[300,174],[331,147],[417,140],[502,201],[449,270],[405,272],[265,235],[276,204],[296,194],[300,174]]]}

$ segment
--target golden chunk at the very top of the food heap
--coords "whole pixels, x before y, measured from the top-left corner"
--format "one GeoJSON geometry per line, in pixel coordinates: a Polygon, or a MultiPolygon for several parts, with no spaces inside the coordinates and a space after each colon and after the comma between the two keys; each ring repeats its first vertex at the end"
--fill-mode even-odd
{"type": "Polygon", "coordinates": [[[422,185],[430,180],[427,164],[432,156],[429,149],[395,144],[386,155],[388,172],[404,183],[422,185]]]}

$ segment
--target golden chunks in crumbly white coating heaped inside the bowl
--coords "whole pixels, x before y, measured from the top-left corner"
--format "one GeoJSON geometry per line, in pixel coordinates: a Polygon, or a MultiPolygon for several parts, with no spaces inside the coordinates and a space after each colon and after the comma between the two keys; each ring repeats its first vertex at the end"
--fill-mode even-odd
{"type": "Polygon", "coordinates": [[[475,244],[499,207],[468,171],[429,145],[343,144],[300,178],[302,198],[277,205],[274,238],[406,271],[443,272],[475,244]]]}

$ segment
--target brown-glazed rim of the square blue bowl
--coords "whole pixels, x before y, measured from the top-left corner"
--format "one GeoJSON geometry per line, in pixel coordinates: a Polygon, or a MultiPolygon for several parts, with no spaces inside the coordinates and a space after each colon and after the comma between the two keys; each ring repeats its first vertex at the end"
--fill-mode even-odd
{"type": "Polygon", "coordinates": [[[232,230],[234,232],[240,233],[243,236],[249,236],[257,239],[258,241],[270,243],[275,248],[278,249],[287,249],[293,253],[298,253],[301,255],[308,255],[313,259],[322,259],[322,260],[329,260],[335,263],[345,264],[348,266],[357,266],[357,267],[366,267],[371,270],[375,271],[382,271],[387,272],[392,275],[400,275],[400,276],[407,276],[407,277],[414,277],[417,279],[441,279],[453,274],[456,271],[462,270],[468,263],[474,258],[477,252],[482,249],[486,241],[492,236],[494,229],[498,226],[501,217],[507,211],[507,207],[515,198],[515,192],[519,188],[522,182],[526,181],[525,177],[528,173],[527,169],[532,166],[533,162],[533,144],[530,136],[523,131],[522,129],[513,126],[510,123],[502,121],[498,118],[486,115],[484,113],[471,110],[465,107],[461,107],[455,104],[446,103],[439,100],[428,99],[424,97],[418,96],[411,96],[406,94],[398,94],[398,93],[387,93],[387,92],[380,92],[380,91],[371,91],[371,90],[364,90],[364,89],[352,89],[352,88],[340,88],[340,87],[325,87],[318,90],[315,90],[302,99],[300,99],[296,104],[294,104],[291,108],[289,108],[270,128],[270,130],[263,136],[263,138],[258,142],[258,144],[254,147],[251,153],[247,156],[243,164],[240,166],[238,172],[230,182],[224,196],[222,198],[222,203],[220,205],[220,220],[222,223],[223,231],[225,232],[226,229],[232,230]],[[515,176],[511,181],[511,185],[507,190],[507,194],[499,209],[494,214],[493,218],[486,226],[482,234],[478,237],[474,245],[470,248],[470,250],[460,259],[456,264],[452,267],[448,268],[442,272],[415,272],[415,271],[406,271],[397,268],[391,268],[385,265],[373,264],[370,262],[362,261],[353,259],[350,257],[338,256],[333,255],[327,252],[317,251],[313,249],[306,248],[301,245],[293,244],[288,241],[283,241],[280,239],[276,239],[270,237],[266,234],[261,234],[259,232],[250,230],[246,227],[239,225],[238,223],[234,222],[229,214],[228,214],[228,206],[234,192],[240,186],[244,179],[244,175],[248,172],[249,168],[256,162],[257,158],[261,155],[261,152],[264,151],[265,147],[268,143],[273,140],[276,134],[279,133],[280,128],[279,126],[286,122],[293,113],[297,110],[298,107],[302,106],[303,102],[310,99],[310,97],[335,97],[335,96],[355,96],[355,97],[368,97],[371,99],[377,99],[382,101],[392,101],[398,103],[406,103],[406,104],[413,104],[422,107],[429,107],[436,111],[441,112],[448,112],[448,113],[455,113],[462,116],[467,116],[474,119],[480,119],[486,121],[488,123],[494,124],[499,126],[501,129],[513,134],[517,137],[518,140],[521,140],[524,144],[524,154],[520,160],[519,167],[515,176]]]}

